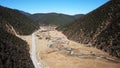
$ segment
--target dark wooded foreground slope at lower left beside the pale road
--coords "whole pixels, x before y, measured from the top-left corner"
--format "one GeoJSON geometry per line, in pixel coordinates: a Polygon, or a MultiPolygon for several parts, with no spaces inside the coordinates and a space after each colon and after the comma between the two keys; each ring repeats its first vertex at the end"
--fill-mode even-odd
{"type": "Polygon", "coordinates": [[[0,68],[34,68],[29,45],[0,28],[0,68]]]}

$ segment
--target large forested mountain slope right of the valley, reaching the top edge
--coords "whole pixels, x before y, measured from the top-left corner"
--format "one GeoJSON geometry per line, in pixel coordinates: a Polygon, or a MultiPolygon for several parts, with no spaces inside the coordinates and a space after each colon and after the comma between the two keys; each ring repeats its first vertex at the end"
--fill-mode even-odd
{"type": "Polygon", "coordinates": [[[58,30],[71,40],[93,46],[120,57],[120,1],[109,1],[98,9],[58,30]]]}

